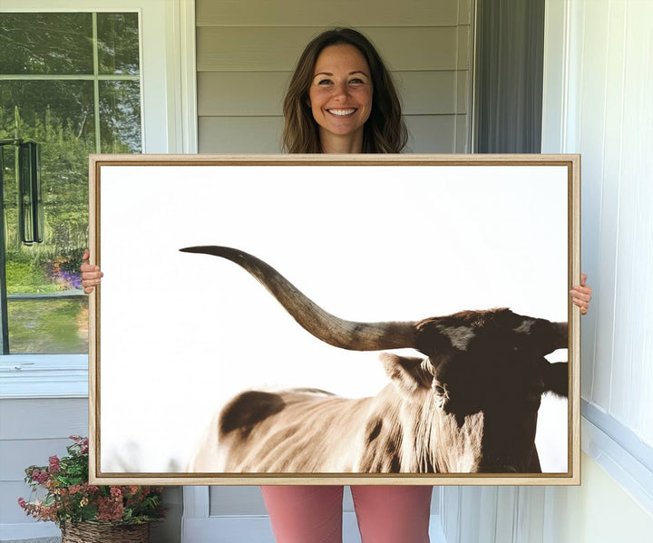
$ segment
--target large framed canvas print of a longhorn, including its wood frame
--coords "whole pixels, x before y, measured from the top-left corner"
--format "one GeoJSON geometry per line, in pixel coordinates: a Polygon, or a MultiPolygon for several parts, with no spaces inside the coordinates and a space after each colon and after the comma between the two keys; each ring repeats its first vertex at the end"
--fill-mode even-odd
{"type": "Polygon", "coordinates": [[[95,157],[94,476],[575,480],[575,164],[95,157]]]}

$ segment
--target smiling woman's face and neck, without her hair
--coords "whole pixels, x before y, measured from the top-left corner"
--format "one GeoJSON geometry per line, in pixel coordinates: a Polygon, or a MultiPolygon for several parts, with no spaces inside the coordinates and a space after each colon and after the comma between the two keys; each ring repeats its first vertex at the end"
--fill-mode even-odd
{"type": "Polygon", "coordinates": [[[322,147],[334,141],[362,147],[373,92],[372,74],[363,54],[354,45],[329,45],[317,57],[313,74],[308,99],[322,147]]]}

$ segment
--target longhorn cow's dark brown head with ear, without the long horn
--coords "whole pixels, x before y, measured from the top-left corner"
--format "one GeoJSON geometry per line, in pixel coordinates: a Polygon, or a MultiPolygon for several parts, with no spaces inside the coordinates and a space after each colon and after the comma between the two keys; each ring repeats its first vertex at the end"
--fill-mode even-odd
{"type": "Polygon", "coordinates": [[[414,347],[427,358],[385,354],[384,363],[405,402],[433,406],[437,442],[426,460],[433,470],[540,471],[534,440],[541,395],[568,390],[568,364],[544,355],[567,346],[566,323],[492,309],[414,326],[414,347]]]}

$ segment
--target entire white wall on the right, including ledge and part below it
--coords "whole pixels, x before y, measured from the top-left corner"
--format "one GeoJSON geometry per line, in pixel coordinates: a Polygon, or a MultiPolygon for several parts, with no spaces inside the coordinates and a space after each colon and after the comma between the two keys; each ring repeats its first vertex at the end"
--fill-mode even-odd
{"type": "Polygon", "coordinates": [[[448,543],[643,542],[653,530],[653,2],[549,0],[545,42],[542,150],[582,155],[595,293],[582,319],[582,485],[444,490],[448,543]]]}

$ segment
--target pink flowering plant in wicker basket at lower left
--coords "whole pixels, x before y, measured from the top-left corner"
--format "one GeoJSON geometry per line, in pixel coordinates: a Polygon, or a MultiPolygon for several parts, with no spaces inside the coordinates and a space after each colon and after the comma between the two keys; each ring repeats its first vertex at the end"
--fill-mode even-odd
{"type": "Polygon", "coordinates": [[[165,516],[162,489],[89,484],[88,438],[71,439],[68,456],[25,470],[32,495],[18,504],[34,519],[54,521],[62,543],[147,543],[150,523],[165,516]]]}

